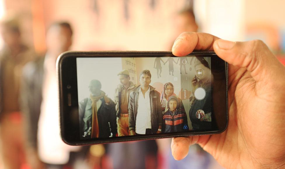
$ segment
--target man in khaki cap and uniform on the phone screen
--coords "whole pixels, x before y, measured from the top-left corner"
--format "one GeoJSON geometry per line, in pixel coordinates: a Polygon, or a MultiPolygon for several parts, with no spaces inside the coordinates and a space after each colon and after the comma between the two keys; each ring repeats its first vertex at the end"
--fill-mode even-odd
{"type": "Polygon", "coordinates": [[[125,136],[130,135],[128,125],[129,95],[131,91],[136,87],[136,85],[130,81],[128,70],[119,72],[118,78],[120,80],[120,84],[118,84],[118,87],[115,89],[118,135],[125,136]]]}

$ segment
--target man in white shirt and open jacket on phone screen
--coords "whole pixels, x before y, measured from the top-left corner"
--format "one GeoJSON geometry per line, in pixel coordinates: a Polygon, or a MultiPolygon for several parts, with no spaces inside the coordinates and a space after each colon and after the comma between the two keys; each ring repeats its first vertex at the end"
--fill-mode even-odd
{"type": "Polygon", "coordinates": [[[159,92],[150,86],[149,70],[140,73],[140,85],[129,97],[129,128],[131,135],[161,133],[162,112],[159,92]]]}

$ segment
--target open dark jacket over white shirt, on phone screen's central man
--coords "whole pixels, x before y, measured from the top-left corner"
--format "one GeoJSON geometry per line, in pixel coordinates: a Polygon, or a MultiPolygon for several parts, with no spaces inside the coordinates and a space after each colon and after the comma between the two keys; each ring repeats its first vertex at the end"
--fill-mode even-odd
{"type": "MultiPolygon", "coordinates": [[[[135,122],[138,114],[138,95],[140,85],[133,89],[129,97],[128,111],[129,111],[129,128],[135,130],[135,122]]],[[[162,126],[162,112],[160,103],[160,94],[154,87],[150,86],[150,110],[151,110],[151,124],[152,133],[156,133],[158,126],[162,126]]]]}

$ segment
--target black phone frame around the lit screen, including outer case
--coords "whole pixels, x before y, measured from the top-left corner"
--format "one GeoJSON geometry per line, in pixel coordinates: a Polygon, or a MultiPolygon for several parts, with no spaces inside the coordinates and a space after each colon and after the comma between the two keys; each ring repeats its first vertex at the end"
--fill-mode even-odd
{"type": "MultiPolygon", "coordinates": [[[[221,81],[223,83],[216,84],[212,83],[212,107],[214,102],[216,103],[215,109],[218,108],[217,113],[212,113],[213,119],[215,120],[215,130],[211,131],[191,131],[191,132],[179,132],[179,133],[160,133],[152,135],[136,135],[136,136],[121,136],[112,138],[93,138],[88,140],[80,139],[79,135],[79,115],[78,115],[78,93],[77,93],[77,57],[176,57],[172,52],[165,51],[100,51],[100,52],[77,52],[68,51],[62,53],[57,60],[57,71],[58,71],[58,84],[59,84],[59,100],[60,100],[60,129],[62,140],[69,145],[91,145],[91,144],[102,144],[111,142],[122,142],[122,141],[135,141],[135,140],[149,140],[158,138],[171,138],[171,137],[185,137],[191,135],[207,135],[217,134],[225,131],[228,125],[228,98],[227,98],[227,82],[228,82],[228,65],[225,61],[218,58],[215,52],[192,52],[189,55],[203,55],[203,57],[216,58],[217,63],[223,64],[224,68],[218,67],[218,64],[213,64],[211,60],[211,71],[214,74],[215,71],[218,73],[224,72],[221,81]],[[217,66],[217,67],[216,67],[217,66]],[[215,91],[217,87],[224,85],[223,90],[215,91]],[[70,85],[71,88],[65,86],[70,85]],[[217,85],[217,86],[216,86],[217,85]],[[72,106],[68,106],[67,95],[71,94],[72,106]],[[220,99],[215,99],[219,96],[220,99]],[[222,102],[222,103],[220,103],[222,102]],[[75,103],[75,104],[74,104],[75,103]],[[77,104],[76,104],[77,103],[77,104]],[[219,105],[220,104],[220,105],[219,105]],[[77,107],[76,107],[77,105],[77,107]],[[70,114],[71,113],[71,114],[70,114]],[[219,113],[219,114],[218,114],[219,113]],[[77,115],[76,115],[77,114],[77,115]],[[215,118],[219,116],[218,120],[215,118]]],[[[188,113],[188,112],[186,112],[188,113]]],[[[212,120],[213,121],[213,120],[212,120]]],[[[213,122],[212,122],[213,124],[213,122]]]]}

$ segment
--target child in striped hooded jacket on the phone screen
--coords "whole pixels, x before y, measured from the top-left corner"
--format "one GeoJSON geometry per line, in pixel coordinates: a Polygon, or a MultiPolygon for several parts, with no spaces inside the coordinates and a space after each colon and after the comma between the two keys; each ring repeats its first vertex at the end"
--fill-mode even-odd
{"type": "Polygon", "coordinates": [[[178,98],[170,96],[168,99],[168,110],[163,115],[163,132],[179,132],[188,130],[187,115],[181,111],[178,98]]]}

